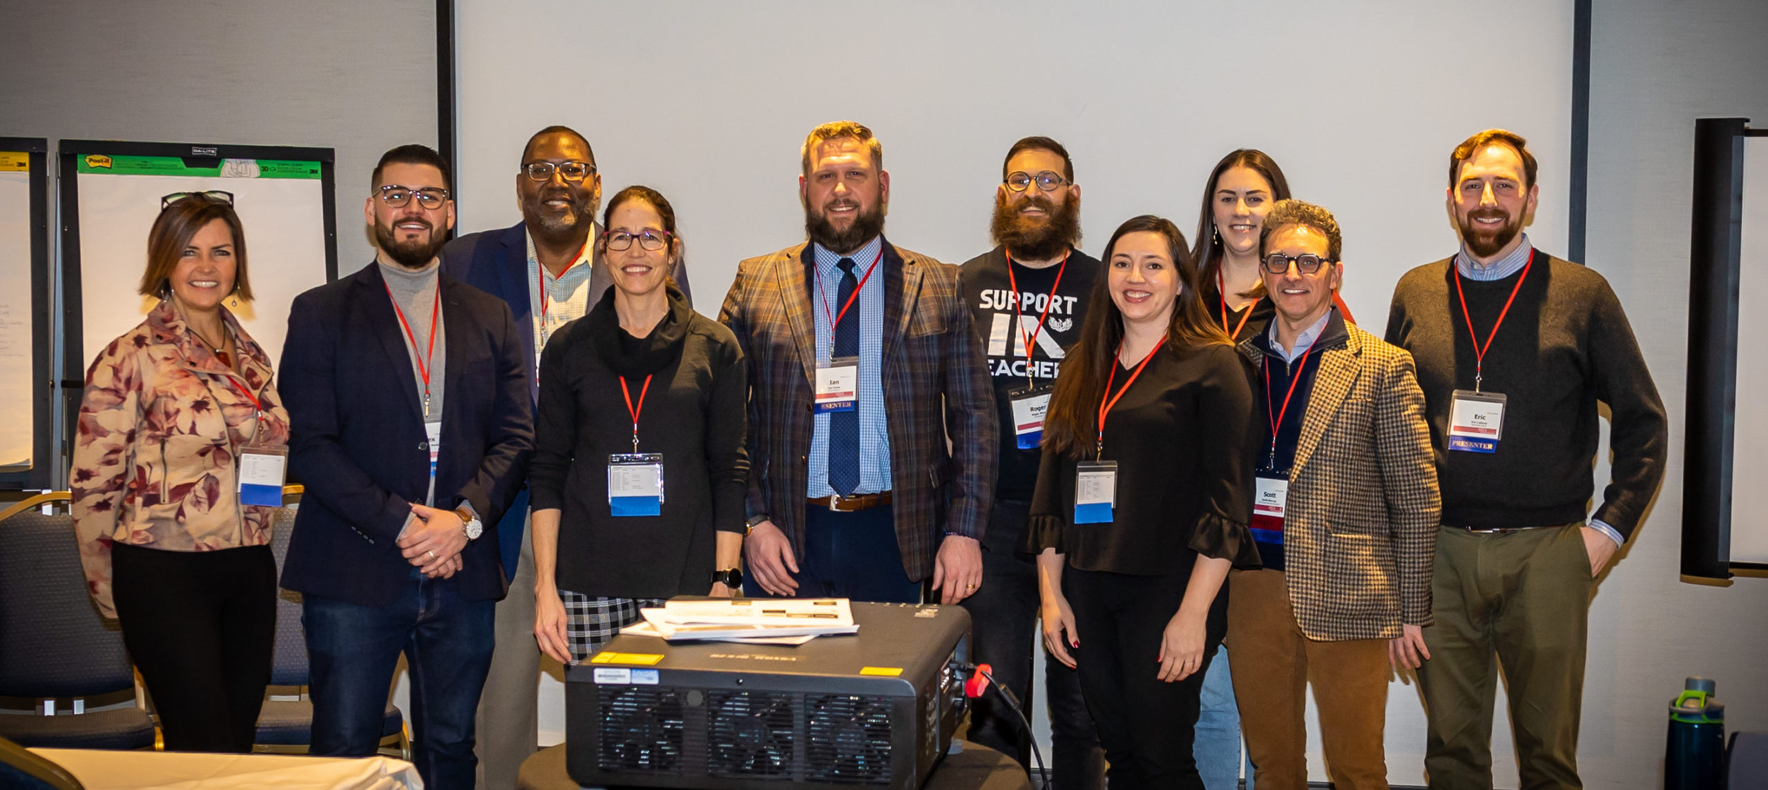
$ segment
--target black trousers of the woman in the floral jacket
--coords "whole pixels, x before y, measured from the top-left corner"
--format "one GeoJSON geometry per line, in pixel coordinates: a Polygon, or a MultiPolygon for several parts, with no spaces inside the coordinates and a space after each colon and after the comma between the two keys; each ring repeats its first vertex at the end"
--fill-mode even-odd
{"type": "Polygon", "coordinates": [[[271,546],[161,551],[111,546],[129,657],[168,751],[251,751],[276,643],[271,546]]]}

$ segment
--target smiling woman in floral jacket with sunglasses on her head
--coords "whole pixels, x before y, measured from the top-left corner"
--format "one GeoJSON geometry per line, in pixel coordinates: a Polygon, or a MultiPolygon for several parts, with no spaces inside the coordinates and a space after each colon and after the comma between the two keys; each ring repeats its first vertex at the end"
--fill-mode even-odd
{"type": "Polygon", "coordinates": [[[276,634],[271,513],[288,412],[221,304],[251,299],[228,193],[175,193],[147,237],[161,302],[87,369],[72,458],[87,589],[122,622],[166,749],[251,751],[276,634]],[[262,502],[262,504],[260,504],[262,502]]]}

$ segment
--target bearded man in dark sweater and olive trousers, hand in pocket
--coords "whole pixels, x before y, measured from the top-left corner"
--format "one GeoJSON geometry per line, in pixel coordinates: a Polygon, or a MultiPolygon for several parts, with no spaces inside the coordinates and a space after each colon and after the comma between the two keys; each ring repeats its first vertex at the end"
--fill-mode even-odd
{"type": "Polygon", "coordinates": [[[1432,788],[1490,788],[1494,654],[1522,786],[1579,788],[1577,725],[1595,576],[1664,477],[1664,403],[1619,299],[1522,233],[1540,189],[1526,141],[1489,129],[1450,156],[1460,251],[1400,277],[1388,343],[1418,362],[1443,527],[1418,682],[1432,788]],[[1492,362],[1490,368],[1485,362],[1492,362]],[[1612,412],[1611,481],[1586,521],[1612,412]]]}

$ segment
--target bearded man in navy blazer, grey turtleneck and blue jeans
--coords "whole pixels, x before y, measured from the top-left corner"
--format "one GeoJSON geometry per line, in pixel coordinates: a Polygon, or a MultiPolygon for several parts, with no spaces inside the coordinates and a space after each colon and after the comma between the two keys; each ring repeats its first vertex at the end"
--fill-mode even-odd
{"type": "Polygon", "coordinates": [[[440,272],[440,156],[392,148],[373,186],[375,263],[288,313],[279,389],[306,495],[281,583],[302,594],[311,753],[375,753],[403,652],[424,785],[472,788],[506,592],[493,525],[527,475],[534,403],[509,308],[440,272]]]}

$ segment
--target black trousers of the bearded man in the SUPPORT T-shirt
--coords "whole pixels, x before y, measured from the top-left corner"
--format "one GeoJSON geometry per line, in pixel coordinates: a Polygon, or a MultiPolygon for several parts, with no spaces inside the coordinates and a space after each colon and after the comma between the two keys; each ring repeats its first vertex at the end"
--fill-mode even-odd
{"type": "MultiPolygon", "coordinates": [[[[1043,689],[1050,710],[1050,790],[1103,790],[1105,751],[1093,714],[1080,696],[1080,677],[1047,650],[1034,647],[1038,629],[1038,566],[1013,551],[1011,536],[1025,534],[1031,505],[999,500],[988,514],[983,541],[983,585],[964,599],[971,613],[971,661],[994,666],[994,679],[1018,695],[1031,716],[1033,661],[1043,657],[1043,689]],[[995,537],[1001,536],[1001,537],[995,537]],[[1034,656],[1034,652],[1038,656],[1034,656]]],[[[971,700],[969,741],[1031,765],[1031,733],[1006,702],[994,695],[971,700]]]]}

